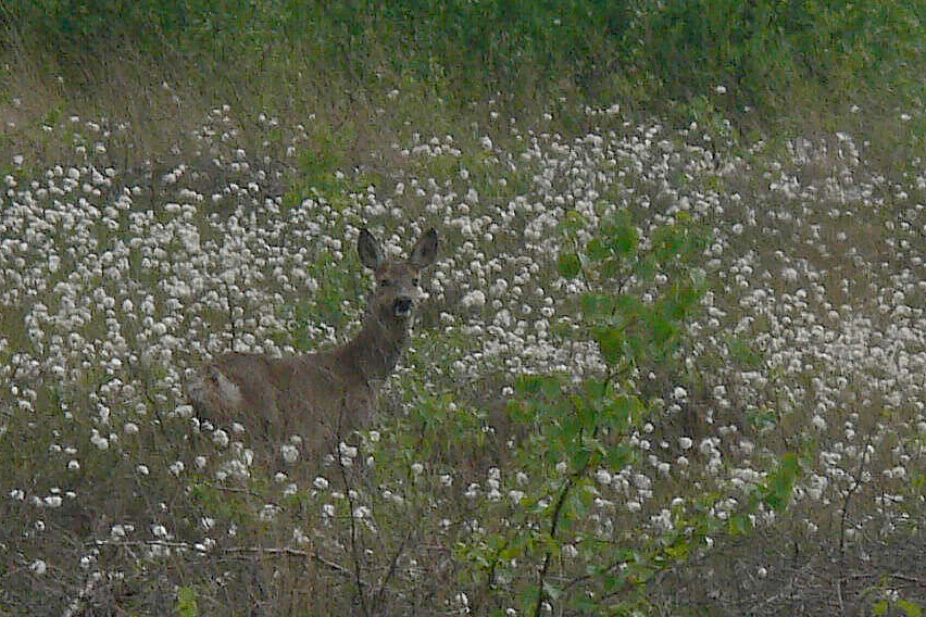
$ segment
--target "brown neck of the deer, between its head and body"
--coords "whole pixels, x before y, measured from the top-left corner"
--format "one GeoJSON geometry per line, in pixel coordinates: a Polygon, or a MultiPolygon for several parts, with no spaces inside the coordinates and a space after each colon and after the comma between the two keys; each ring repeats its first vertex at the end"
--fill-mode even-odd
{"type": "Polygon", "coordinates": [[[408,340],[408,324],[367,314],[356,337],[340,349],[340,356],[364,381],[378,382],[396,368],[408,340]]]}

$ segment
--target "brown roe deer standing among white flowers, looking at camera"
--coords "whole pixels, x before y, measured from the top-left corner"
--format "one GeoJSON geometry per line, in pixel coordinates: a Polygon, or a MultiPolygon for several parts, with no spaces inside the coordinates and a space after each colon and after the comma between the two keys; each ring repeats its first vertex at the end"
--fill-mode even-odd
{"type": "Polygon", "coordinates": [[[373,235],[361,229],[356,249],[363,265],[375,273],[376,290],[353,340],[329,351],[280,358],[222,355],[187,382],[193,408],[212,420],[240,421],[253,437],[301,435],[314,452],[362,428],[375,412],[380,382],[408,343],[422,295],[418,275],[434,263],[437,244],[431,228],[406,261],[388,261],[373,235]]]}

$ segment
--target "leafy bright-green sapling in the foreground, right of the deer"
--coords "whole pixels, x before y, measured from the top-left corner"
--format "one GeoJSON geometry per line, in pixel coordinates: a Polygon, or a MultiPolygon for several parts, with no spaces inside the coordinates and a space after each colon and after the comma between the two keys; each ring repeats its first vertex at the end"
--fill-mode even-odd
{"type": "Polygon", "coordinates": [[[522,479],[509,496],[516,495],[517,505],[502,498],[495,507],[487,504],[480,519],[502,524],[458,546],[472,568],[467,576],[481,587],[474,595],[497,609],[515,596],[526,615],[542,614],[545,604],[579,614],[648,612],[646,589],[656,575],[690,557],[710,536],[750,531],[760,509],[785,509],[798,477],[797,457],[787,454],[728,518],[711,507],[721,493],[706,491],[687,512],[665,504],[660,516],[671,522],[662,533],[638,528],[633,516],[625,520],[628,529],[637,528],[633,534],[597,527],[600,500],[609,499],[610,480],[601,478],[640,463],[634,436],[653,416],[638,369],[672,366],[684,326],[698,313],[706,281],[697,264],[708,237],[679,217],[642,243],[626,212],[603,216],[592,238],[580,241],[579,231],[589,227],[578,213],[567,214],[567,248],[558,263],[561,276],[580,278],[588,289],[578,336],[592,337],[606,369],[581,379],[558,374],[518,379],[510,413],[529,432],[513,455],[522,479]],[[658,277],[662,282],[652,301],[627,291],[630,280],[653,286],[658,277]]]}

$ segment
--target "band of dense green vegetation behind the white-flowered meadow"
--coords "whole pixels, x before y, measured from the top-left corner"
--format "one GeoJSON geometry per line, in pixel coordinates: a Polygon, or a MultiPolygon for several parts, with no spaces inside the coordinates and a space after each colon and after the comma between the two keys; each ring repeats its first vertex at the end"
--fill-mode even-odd
{"type": "Polygon", "coordinates": [[[451,100],[566,92],[649,109],[724,86],[723,111],[780,116],[796,97],[915,100],[926,45],[922,3],[877,0],[14,0],[0,17],[5,55],[39,56],[78,87],[130,51],[207,96],[276,106],[312,75],[337,97],[418,85],[451,100]]]}

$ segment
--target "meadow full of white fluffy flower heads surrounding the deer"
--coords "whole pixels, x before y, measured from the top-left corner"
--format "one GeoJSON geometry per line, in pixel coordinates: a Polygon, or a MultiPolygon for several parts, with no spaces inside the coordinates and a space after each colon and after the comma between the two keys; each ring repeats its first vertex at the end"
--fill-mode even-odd
{"type": "Polygon", "coordinates": [[[926,161],[485,106],[358,166],[230,106],[2,154],[0,614],[922,614],[926,161]],[[363,226],[441,235],[376,421],[197,417],[358,330],[363,226]]]}

